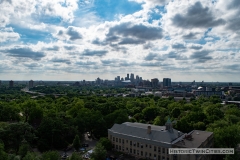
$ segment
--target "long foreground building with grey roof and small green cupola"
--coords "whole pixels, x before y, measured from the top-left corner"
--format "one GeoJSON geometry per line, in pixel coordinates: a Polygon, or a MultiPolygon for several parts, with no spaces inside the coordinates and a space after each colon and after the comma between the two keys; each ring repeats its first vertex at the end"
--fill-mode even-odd
{"type": "Polygon", "coordinates": [[[173,155],[169,148],[212,147],[213,133],[192,131],[188,134],[172,128],[170,120],[165,126],[125,122],[108,129],[108,138],[114,150],[136,158],[153,160],[209,160],[203,155],[173,155]],[[190,137],[190,138],[189,138],[190,137]]]}

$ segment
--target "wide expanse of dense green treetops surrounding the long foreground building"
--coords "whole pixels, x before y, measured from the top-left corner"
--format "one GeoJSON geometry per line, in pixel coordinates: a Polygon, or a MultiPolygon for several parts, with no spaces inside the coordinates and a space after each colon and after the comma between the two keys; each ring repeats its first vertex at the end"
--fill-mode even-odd
{"type": "MultiPolygon", "coordinates": [[[[172,97],[160,98],[153,95],[97,96],[100,93],[127,93],[129,90],[125,88],[50,88],[55,88],[57,94],[63,95],[32,97],[20,91],[21,88],[4,88],[6,92],[1,91],[1,157],[12,155],[20,156],[20,159],[40,159],[31,152],[31,148],[37,147],[46,152],[43,156],[57,159],[59,155],[50,150],[67,148],[73,142],[79,147],[76,135],[90,132],[97,138],[107,137],[107,129],[114,123],[131,121],[164,125],[168,117],[176,122],[174,128],[182,132],[193,129],[214,132],[216,148],[235,148],[240,143],[240,135],[235,134],[240,133],[240,110],[234,105],[220,104],[221,100],[217,96],[176,102],[172,97]]],[[[40,87],[33,90],[48,93],[49,89],[40,87]]],[[[111,144],[106,139],[101,139],[100,142],[100,150],[111,149],[111,144]]],[[[75,157],[78,159],[76,155],[75,157]]]]}

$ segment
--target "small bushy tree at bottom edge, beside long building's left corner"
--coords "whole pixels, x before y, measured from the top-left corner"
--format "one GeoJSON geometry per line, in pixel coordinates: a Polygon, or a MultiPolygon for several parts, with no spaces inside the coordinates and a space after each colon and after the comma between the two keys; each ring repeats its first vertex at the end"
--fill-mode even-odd
{"type": "Polygon", "coordinates": [[[101,143],[97,143],[96,147],[93,150],[93,153],[91,154],[91,159],[93,160],[104,160],[106,158],[107,151],[102,146],[101,143]]]}

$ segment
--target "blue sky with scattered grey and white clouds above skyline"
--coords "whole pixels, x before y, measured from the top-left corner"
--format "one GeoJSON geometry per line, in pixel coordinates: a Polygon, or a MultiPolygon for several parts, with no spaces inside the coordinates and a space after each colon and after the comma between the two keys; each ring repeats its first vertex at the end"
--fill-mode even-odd
{"type": "Polygon", "coordinates": [[[0,80],[240,82],[239,0],[0,0],[0,80]]]}

